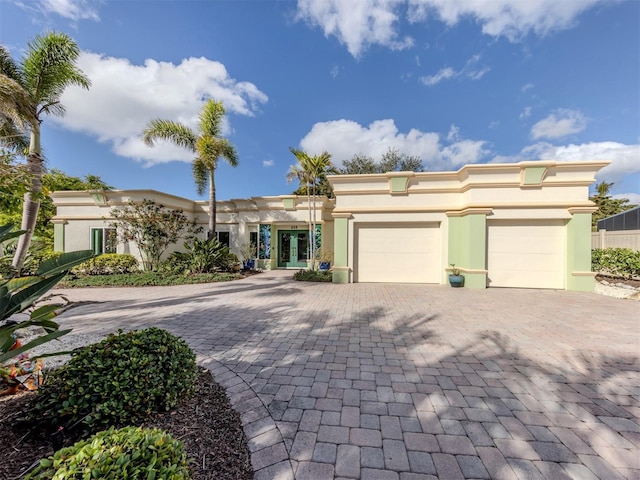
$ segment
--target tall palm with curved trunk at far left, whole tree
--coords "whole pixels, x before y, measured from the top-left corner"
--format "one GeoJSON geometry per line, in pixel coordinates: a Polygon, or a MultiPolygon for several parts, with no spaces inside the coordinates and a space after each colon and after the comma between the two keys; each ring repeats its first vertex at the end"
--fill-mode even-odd
{"type": "MultiPolygon", "coordinates": [[[[72,85],[88,89],[89,78],[76,66],[80,49],[64,33],[37,36],[27,44],[21,62],[0,45],[0,111],[5,118],[29,132],[27,167],[31,174],[29,191],[24,195],[22,227],[12,265],[22,268],[36,225],[44,159],[40,143],[40,125],[45,115],[62,116],[60,97],[72,85]]],[[[6,142],[2,142],[6,145],[6,142]]]]}

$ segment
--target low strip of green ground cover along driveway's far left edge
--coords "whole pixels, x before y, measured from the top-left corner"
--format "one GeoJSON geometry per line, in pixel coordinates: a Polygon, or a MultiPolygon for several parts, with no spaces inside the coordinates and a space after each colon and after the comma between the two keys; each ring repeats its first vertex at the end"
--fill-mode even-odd
{"type": "Polygon", "coordinates": [[[160,287],[171,285],[195,285],[199,283],[229,282],[231,280],[237,280],[239,278],[242,278],[242,276],[230,272],[183,275],[158,271],[113,275],[92,275],[77,278],[67,277],[62,282],[60,282],[59,286],[61,288],[160,287]]]}

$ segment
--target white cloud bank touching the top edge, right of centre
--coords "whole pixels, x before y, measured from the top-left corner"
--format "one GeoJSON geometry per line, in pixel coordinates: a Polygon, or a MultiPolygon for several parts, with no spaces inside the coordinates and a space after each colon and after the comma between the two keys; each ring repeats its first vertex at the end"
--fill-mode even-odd
{"type": "Polygon", "coordinates": [[[298,0],[296,17],[333,36],[359,57],[370,45],[394,50],[413,46],[400,38],[401,12],[412,23],[431,14],[448,26],[471,19],[492,37],[512,42],[571,28],[580,14],[610,0],[298,0]]]}

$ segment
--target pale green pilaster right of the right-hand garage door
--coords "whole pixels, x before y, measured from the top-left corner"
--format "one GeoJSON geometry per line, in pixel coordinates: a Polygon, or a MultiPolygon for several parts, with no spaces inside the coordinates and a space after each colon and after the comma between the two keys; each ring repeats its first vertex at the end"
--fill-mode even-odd
{"type": "Polygon", "coordinates": [[[593,292],[595,278],[573,275],[591,271],[591,214],[574,213],[567,223],[567,290],[593,292]]]}

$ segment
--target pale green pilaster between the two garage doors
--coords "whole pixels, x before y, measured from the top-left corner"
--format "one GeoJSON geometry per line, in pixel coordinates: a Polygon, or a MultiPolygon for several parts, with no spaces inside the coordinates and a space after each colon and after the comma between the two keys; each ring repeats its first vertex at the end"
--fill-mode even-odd
{"type": "Polygon", "coordinates": [[[485,273],[465,273],[464,269],[484,270],[487,266],[487,216],[483,213],[449,217],[449,258],[463,270],[465,288],[486,288],[485,273]]]}

